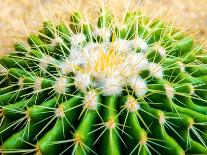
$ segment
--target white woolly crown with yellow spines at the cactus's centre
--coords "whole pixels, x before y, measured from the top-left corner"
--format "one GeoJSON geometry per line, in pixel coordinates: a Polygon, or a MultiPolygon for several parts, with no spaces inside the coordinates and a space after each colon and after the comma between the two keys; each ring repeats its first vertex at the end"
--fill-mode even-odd
{"type": "MultiPolygon", "coordinates": [[[[93,32],[104,37],[109,37],[108,33],[112,35],[106,28],[93,32]],[[107,34],[103,34],[105,32],[107,34]]],[[[103,40],[101,43],[88,42],[84,45],[85,37],[82,35],[72,35],[70,56],[60,65],[63,75],[70,72],[75,75],[74,85],[81,91],[95,86],[105,96],[120,95],[123,88],[130,85],[137,96],[143,96],[147,86],[140,72],[147,69],[152,76],[162,78],[161,65],[147,60],[145,52],[148,45],[143,39],[103,40]],[[140,49],[140,52],[136,52],[136,49],[140,49]]]]}

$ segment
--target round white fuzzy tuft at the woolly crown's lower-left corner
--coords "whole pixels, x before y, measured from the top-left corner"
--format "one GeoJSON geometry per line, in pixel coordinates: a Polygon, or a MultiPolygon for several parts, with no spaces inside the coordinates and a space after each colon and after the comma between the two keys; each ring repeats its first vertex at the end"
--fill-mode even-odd
{"type": "Polygon", "coordinates": [[[78,72],[74,77],[74,85],[76,88],[85,92],[91,84],[91,77],[87,73],[78,72]]]}

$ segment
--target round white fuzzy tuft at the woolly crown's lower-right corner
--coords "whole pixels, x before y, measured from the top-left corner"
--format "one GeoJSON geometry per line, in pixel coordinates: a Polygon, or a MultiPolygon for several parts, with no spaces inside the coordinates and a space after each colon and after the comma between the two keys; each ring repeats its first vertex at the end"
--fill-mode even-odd
{"type": "Polygon", "coordinates": [[[138,97],[144,96],[147,93],[147,84],[140,77],[130,79],[129,84],[138,97]]]}

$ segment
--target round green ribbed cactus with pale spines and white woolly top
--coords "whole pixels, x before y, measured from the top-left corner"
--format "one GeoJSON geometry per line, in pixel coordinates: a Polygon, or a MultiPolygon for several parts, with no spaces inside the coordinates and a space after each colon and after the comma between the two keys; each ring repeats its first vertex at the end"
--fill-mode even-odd
{"type": "Polygon", "coordinates": [[[207,56],[173,25],[102,7],[0,59],[2,154],[207,154],[207,56]]]}

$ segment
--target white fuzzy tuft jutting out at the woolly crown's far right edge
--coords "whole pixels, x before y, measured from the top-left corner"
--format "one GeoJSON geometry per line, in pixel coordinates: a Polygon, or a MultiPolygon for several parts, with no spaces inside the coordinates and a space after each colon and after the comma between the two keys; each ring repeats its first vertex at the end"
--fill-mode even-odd
{"type": "Polygon", "coordinates": [[[163,78],[163,69],[160,64],[149,63],[149,72],[155,78],[163,78]]]}

